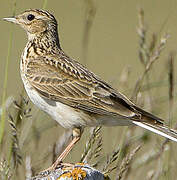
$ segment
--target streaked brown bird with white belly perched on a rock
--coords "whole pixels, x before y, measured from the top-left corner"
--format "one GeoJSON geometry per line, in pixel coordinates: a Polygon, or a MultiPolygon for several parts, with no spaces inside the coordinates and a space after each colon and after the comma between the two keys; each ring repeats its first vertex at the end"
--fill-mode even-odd
{"type": "Polygon", "coordinates": [[[3,20],[27,33],[20,74],[29,98],[62,127],[72,129],[71,142],[51,169],[64,160],[85,127],[136,125],[177,142],[177,132],[164,120],[138,107],[63,51],[58,23],[50,12],[28,9],[3,20]]]}

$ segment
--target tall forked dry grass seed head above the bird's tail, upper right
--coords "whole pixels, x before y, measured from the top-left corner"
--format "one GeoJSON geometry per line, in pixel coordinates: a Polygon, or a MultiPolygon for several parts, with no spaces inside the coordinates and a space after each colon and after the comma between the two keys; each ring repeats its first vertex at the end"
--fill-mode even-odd
{"type": "MultiPolygon", "coordinates": [[[[137,95],[141,90],[144,78],[147,77],[147,83],[149,84],[149,76],[148,72],[152,68],[154,62],[159,59],[162,50],[165,48],[167,39],[169,38],[169,34],[164,35],[159,44],[157,44],[157,36],[155,34],[152,35],[152,41],[150,45],[147,45],[146,34],[147,30],[144,23],[144,11],[140,9],[139,11],[139,27],[137,29],[138,35],[140,37],[140,50],[139,50],[139,59],[144,66],[144,72],[137,80],[135,84],[135,88],[132,91],[131,99],[136,102],[137,95]]],[[[149,86],[149,85],[148,85],[149,86]]]]}

